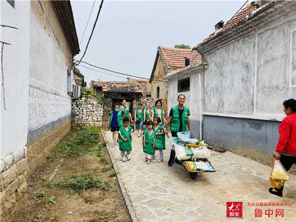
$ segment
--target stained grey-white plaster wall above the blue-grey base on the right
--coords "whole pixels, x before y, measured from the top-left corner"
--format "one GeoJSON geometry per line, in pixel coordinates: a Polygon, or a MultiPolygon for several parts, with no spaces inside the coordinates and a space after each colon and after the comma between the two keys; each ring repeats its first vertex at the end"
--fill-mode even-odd
{"type": "Polygon", "coordinates": [[[296,14],[270,20],[268,27],[203,57],[205,112],[285,116],[284,100],[296,98],[290,72],[296,14]]]}

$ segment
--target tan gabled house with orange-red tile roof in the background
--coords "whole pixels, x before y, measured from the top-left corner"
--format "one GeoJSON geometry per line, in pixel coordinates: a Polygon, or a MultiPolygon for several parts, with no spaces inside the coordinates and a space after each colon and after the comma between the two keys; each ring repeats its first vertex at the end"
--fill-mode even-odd
{"type": "MultiPolygon", "coordinates": [[[[151,83],[151,98],[161,98],[162,103],[167,106],[169,84],[164,82],[168,73],[179,70],[185,67],[185,58],[187,58],[188,65],[193,65],[201,61],[201,55],[196,51],[190,49],[168,48],[158,46],[154,61],[152,73],[149,82],[151,83]],[[153,81],[157,79],[162,81],[153,81]]],[[[167,113],[167,108],[164,109],[167,113]]]]}

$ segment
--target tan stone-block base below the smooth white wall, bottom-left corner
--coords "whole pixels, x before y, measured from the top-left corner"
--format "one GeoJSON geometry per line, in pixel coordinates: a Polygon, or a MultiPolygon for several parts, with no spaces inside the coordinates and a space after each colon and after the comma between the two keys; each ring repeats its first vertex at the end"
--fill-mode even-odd
{"type": "Polygon", "coordinates": [[[27,147],[21,147],[0,160],[1,172],[1,221],[9,221],[10,215],[26,200],[27,147]]]}

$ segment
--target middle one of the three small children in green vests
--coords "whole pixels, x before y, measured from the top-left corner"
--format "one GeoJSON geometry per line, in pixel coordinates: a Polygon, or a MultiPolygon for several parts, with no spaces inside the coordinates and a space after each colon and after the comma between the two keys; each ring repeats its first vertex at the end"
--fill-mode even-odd
{"type": "Polygon", "coordinates": [[[151,154],[154,151],[155,144],[155,132],[153,130],[152,121],[147,122],[147,130],[144,131],[143,135],[143,151],[145,152],[145,160],[147,164],[151,162],[151,154]]]}

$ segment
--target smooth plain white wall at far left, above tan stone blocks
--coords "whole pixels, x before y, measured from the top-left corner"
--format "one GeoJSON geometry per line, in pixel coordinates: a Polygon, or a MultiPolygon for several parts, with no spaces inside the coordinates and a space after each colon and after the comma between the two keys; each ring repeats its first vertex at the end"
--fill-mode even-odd
{"type": "MultiPolygon", "coordinates": [[[[15,1],[13,8],[0,1],[1,41],[9,42],[3,49],[5,105],[1,86],[1,158],[24,147],[28,134],[28,93],[30,64],[30,1],[15,1]]],[[[2,84],[2,78],[1,84],[2,84]]]]}

